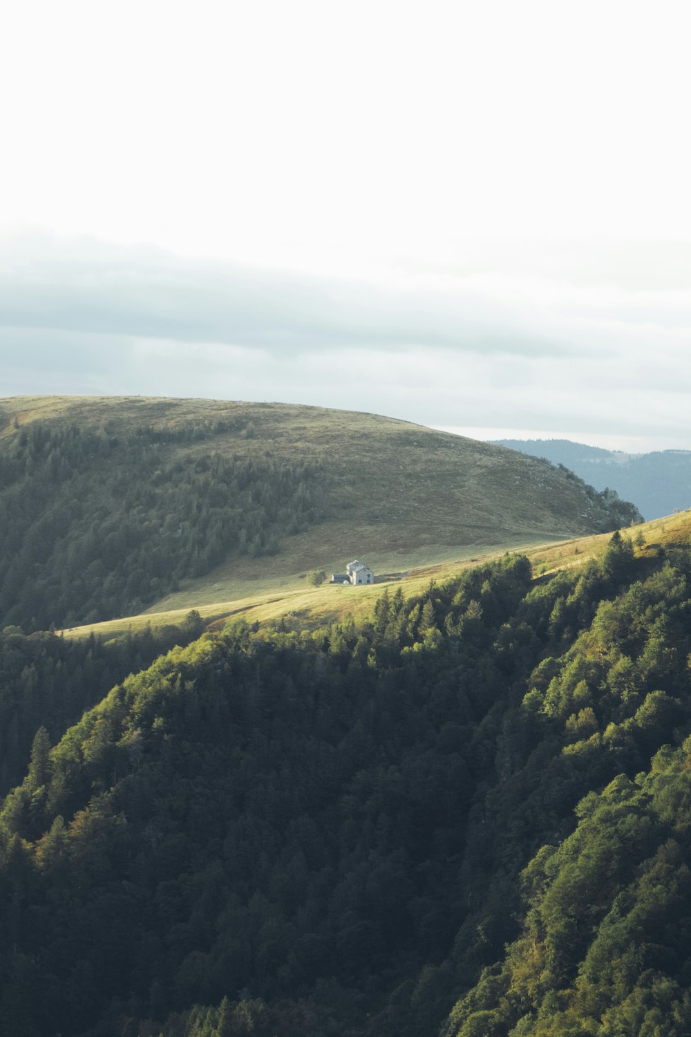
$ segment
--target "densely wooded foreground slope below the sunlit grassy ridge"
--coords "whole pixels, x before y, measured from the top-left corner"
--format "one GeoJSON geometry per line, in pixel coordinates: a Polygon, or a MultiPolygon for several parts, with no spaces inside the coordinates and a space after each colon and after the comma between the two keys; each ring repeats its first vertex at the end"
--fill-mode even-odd
{"type": "Polygon", "coordinates": [[[684,530],[538,584],[507,556],[358,624],[205,635],[39,732],[0,1026],[688,1033],[690,573],[684,530]]]}

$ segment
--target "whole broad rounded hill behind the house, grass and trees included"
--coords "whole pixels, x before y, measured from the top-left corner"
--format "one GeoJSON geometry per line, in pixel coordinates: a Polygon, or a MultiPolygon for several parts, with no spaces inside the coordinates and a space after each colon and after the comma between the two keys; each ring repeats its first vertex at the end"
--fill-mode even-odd
{"type": "Polygon", "coordinates": [[[0,400],[0,624],[65,627],[611,530],[635,508],[546,461],[278,403],[0,400]]]}

